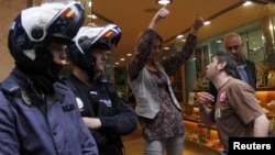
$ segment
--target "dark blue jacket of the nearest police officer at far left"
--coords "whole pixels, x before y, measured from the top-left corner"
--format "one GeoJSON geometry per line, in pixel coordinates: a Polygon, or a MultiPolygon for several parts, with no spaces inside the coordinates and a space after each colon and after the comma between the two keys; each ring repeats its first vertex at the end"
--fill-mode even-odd
{"type": "Polygon", "coordinates": [[[70,89],[56,82],[43,99],[32,86],[16,68],[1,82],[0,154],[98,155],[70,89]]]}

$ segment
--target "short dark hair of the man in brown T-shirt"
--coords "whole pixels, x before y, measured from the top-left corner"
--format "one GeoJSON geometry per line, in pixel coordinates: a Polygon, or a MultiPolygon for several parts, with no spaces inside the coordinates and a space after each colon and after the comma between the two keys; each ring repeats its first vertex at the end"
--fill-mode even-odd
{"type": "Polygon", "coordinates": [[[235,77],[235,68],[237,68],[237,60],[232,54],[218,52],[212,55],[212,57],[217,57],[218,64],[226,62],[227,66],[224,68],[228,75],[235,77]]]}

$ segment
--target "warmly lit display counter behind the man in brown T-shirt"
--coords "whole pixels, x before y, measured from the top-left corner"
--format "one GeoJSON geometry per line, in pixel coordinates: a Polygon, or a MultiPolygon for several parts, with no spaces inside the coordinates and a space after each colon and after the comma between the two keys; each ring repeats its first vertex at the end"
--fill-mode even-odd
{"type": "MultiPolygon", "coordinates": [[[[184,106],[185,139],[187,143],[196,144],[198,148],[207,148],[211,153],[223,150],[216,126],[207,128],[199,117],[197,99],[201,91],[195,91],[194,104],[184,106]]],[[[271,121],[270,135],[275,136],[275,90],[261,89],[256,91],[256,98],[266,117],[271,121]]]]}

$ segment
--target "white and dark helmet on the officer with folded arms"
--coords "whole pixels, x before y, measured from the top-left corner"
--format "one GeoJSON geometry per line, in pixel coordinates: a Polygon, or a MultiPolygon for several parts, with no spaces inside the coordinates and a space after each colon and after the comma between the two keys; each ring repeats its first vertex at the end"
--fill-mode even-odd
{"type": "Polygon", "coordinates": [[[92,48],[109,51],[117,46],[121,38],[121,30],[116,24],[105,26],[82,26],[74,38],[75,44],[67,46],[68,59],[79,68],[94,76],[95,57],[92,48]]]}

